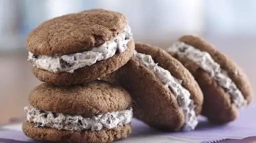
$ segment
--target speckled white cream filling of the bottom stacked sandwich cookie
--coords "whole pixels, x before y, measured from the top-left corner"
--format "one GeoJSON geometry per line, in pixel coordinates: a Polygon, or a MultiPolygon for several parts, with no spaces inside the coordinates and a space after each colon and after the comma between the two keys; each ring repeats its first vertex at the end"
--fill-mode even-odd
{"type": "Polygon", "coordinates": [[[27,120],[34,123],[35,127],[50,127],[69,131],[112,129],[130,123],[133,117],[132,108],[106,112],[90,118],[42,111],[32,106],[26,106],[24,110],[27,114],[27,120]]]}

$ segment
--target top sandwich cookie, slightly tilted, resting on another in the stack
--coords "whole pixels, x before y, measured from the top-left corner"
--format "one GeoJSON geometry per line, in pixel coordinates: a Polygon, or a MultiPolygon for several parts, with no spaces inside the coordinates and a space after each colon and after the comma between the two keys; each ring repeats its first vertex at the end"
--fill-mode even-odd
{"type": "Polygon", "coordinates": [[[95,9],[45,21],[28,35],[27,48],[39,80],[69,85],[123,66],[133,55],[134,41],[124,15],[95,9]]]}

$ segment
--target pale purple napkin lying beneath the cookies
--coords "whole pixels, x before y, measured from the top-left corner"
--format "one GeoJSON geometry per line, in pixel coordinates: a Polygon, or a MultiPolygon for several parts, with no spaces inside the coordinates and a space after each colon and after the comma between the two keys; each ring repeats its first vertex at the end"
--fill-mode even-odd
{"type": "MultiPolygon", "coordinates": [[[[194,131],[190,132],[175,132],[175,133],[166,133],[157,131],[151,127],[148,127],[143,122],[133,119],[132,127],[133,134],[127,139],[124,139],[124,142],[130,142],[129,140],[142,139],[147,137],[157,136],[160,138],[169,138],[169,141],[173,141],[174,138],[190,139],[191,141],[199,142],[210,142],[218,140],[218,142],[252,142],[256,140],[256,104],[244,107],[240,111],[240,116],[236,121],[225,125],[215,125],[207,122],[204,117],[199,117],[199,125],[194,131]],[[253,137],[254,136],[254,137],[253,137]],[[230,138],[230,139],[225,139],[230,138]],[[241,140],[244,138],[243,140],[241,140]],[[221,139],[225,139],[222,140],[221,139]]],[[[150,138],[147,138],[150,139],[150,138]]],[[[118,142],[122,142],[120,140],[118,142]]],[[[175,141],[175,140],[174,140],[175,141]]],[[[30,139],[22,131],[13,131],[13,130],[0,130],[0,143],[25,143],[25,142],[37,142],[33,139],[30,139]]],[[[156,141],[155,141],[156,142],[156,141]]],[[[182,141],[181,141],[182,142],[182,141]]],[[[183,141],[189,142],[189,141],[183,141]]],[[[147,142],[149,143],[149,142],[147,142]]]]}

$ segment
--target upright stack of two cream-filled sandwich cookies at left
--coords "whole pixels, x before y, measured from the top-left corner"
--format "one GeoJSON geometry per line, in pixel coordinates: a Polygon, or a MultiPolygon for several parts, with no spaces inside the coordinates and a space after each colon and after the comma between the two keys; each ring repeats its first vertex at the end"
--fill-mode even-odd
{"type": "Polygon", "coordinates": [[[97,80],[132,57],[126,18],[89,10],[53,18],[27,38],[28,61],[41,81],[29,94],[24,133],[55,142],[112,142],[131,134],[132,99],[118,85],[97,80]]]}

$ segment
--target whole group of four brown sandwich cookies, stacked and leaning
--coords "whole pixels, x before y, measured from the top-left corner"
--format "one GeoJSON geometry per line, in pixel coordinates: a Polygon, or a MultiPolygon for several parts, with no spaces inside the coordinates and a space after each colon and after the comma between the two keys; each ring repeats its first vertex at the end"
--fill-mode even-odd
{"type": "Polygon", "coordinates": [[[244,72],[203,39],[183,36],[167,52],[134,43],[126,18],[108,10],[48,20],[27,47],[46,82],[25,107],[23,130],[37,140],[112,142],[131,134],[133,115],[159,130],[191,131],[201,111],[227,123],[252,97],[244,72]]]}

